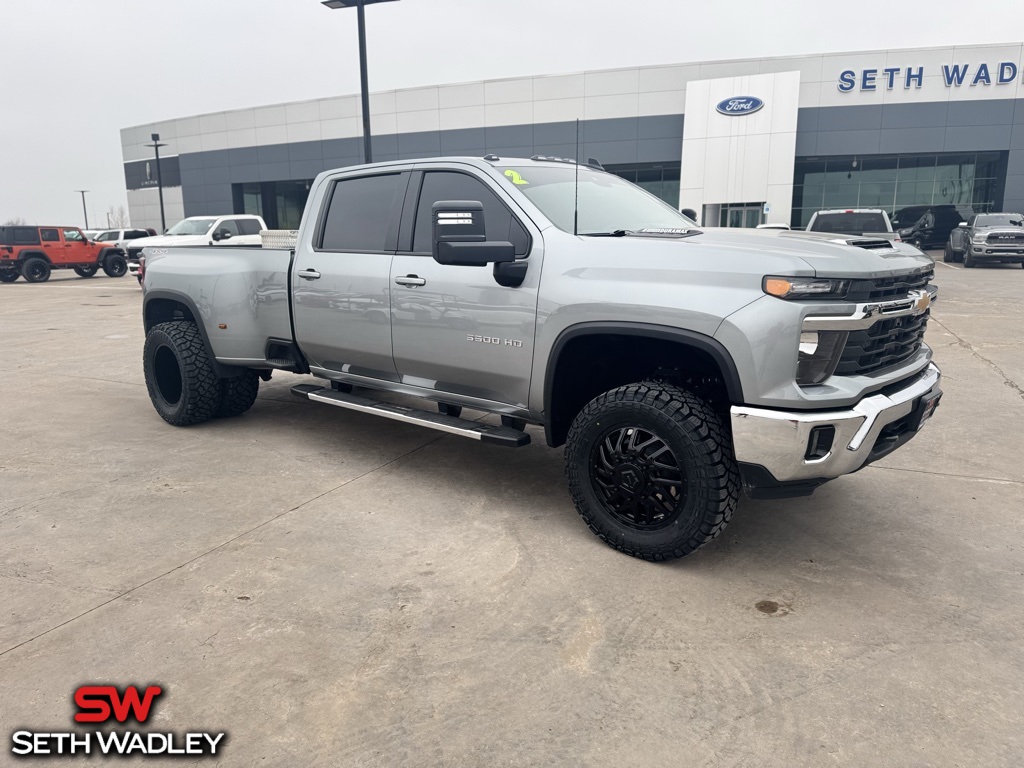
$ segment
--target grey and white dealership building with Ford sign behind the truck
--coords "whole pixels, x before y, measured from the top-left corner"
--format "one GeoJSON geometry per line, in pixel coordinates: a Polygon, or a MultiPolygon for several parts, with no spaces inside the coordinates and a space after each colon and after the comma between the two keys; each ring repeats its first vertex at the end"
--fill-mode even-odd
{"type": "MultiPolygon", "coordinates": [[[[639,67],[371,94],[375,161],[596,159],[705,225],[821,208],[1024,211],[1024,46],[639,67]],[[577,130],[579,120],[579,146],[577,130]]],[[[258,213],[298,225],[326,169],[362,162],[357,95],[121,131],[131,220],[258,213]]]]}

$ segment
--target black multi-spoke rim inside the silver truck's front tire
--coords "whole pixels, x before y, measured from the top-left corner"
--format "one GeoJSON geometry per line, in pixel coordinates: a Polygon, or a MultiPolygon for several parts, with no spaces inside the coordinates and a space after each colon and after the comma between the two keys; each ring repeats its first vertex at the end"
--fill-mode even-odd
{"type": "Polygon", "coordinates": [[[671,525],[686,503],[686,476],[676,455],[640,426],[614,426],[597,439],[590,477],[608,512],[631,528],[671,525]]]}

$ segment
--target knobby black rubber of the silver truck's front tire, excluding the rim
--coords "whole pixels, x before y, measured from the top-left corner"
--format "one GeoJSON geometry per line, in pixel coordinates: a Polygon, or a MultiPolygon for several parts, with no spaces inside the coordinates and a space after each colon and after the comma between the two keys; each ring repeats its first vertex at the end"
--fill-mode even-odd
{"type": "MultiPolygon", "coordinates": [[[[602,470],[603,471],[603,470],[602,470]]],[[[696,395],[671,384],[641,382],[591,400],[572,421],[565,446],[569,493],[590,529],[614,549],[644,560],[688,555],[722,532],[739,500],[732,440],[718,415],[696,395]],[[595,452],[604,435],[638,429],[671,452],[684,496],[660,527],[628,524],[606,504],[595,479],[595,452]]],[[[645,480],[647,487],[652,481],[645,480]]]]}

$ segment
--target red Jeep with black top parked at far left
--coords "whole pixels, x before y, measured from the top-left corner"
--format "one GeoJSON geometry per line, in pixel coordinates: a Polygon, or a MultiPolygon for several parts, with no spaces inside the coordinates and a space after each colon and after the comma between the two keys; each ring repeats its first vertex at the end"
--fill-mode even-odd
{"type": "Polygon", "coordinates": [[[128,271],[124,251],[93,243],[77,226],[0,226],[0,283],[18,276],[44,283],[51,269],[72,268],[81,278],[102,269],[109,278],[128,271]]]}

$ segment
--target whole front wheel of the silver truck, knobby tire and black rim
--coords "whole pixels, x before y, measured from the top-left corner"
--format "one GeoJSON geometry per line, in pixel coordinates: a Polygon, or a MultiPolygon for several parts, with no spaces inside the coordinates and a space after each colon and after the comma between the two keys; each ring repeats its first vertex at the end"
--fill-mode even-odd
{"type": "Polygon", "coordinates": [[[718,415],[679,387],[642,382],[598,395],[565,447],[577,511],[614,549],[684,557],[725,528],[739,500],[732,443],[718,415]]]}

